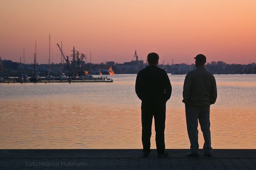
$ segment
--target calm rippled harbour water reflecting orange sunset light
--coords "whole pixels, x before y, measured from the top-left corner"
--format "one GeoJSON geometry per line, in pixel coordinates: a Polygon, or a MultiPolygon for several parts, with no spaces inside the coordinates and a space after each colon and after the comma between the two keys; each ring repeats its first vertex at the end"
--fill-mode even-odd
{"type": "MultiPolygon", "coordinates": [[[[212,147],[256,149],[256,75],[214,76],[218,98],[210,114],[212,147]]],[[[0,84],[0,149],[142,148],[136,75],[108,78],[114,82],[0,84]]],[[[166,148],[188,149],[185,75],[169,78],[173,91],[166,110],[166,148]]]]}

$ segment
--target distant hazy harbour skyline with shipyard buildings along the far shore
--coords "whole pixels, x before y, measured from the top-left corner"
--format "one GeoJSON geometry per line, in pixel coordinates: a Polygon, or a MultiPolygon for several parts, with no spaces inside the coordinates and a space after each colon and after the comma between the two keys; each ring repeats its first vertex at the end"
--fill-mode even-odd
{"type": "MultiPolygon", "coordinates": [[[[111,74],[137,74],[141,69],[145,68],[148,64],[143,60],[138,60],[138,56],[135,52],[135,60],[124,63],[116,63],[115,61],[109,61],[105,63],[94,64],[87,62],[87,57],[84,54],[79,54],[72,50],[73,55],[69,58],[71,61],[64,60],[63,63],[51,63],[38,64],[36,63],[36,73],[40,76],[47,76],[50,72],[52,76],[59,76],[65,73],[66,76],[80,76],[80,75],[111,75],[111,74]],[[50,68],[50,70],[49,70],[50,68]]],[[[88,57],[89,58],[89,57],[88,57]]],[[[188,65],[187,63],[181,64],[158,64],[159,68],[164,69],[167,73],[172,74],[187,74],[189,71],[196,68],[195,64],[188,65]]],[[[226,64],[222,61],[211,62],[204,65],[204,67],[213,74],[256,74],[256,64],[226,64]]],[[[0,57],[0,74],[4,77],[4,74],[9,76],[15,76],[20,73],[26,72],[34,74],[34,63],[24,64],[21,62],[12,62],[11,60],[5,60],[0,57]]]]}

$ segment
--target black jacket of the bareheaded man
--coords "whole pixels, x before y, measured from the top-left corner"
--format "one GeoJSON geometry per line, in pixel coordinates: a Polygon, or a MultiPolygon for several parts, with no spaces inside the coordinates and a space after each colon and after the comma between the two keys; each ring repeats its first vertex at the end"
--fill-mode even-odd
{"type": "Polygon", "coordinates": [[[170,99],[172,85],[165,70],[157,66],[147,66],[139,71],[135,92],[140,100],[164,100],[170,99]]]}

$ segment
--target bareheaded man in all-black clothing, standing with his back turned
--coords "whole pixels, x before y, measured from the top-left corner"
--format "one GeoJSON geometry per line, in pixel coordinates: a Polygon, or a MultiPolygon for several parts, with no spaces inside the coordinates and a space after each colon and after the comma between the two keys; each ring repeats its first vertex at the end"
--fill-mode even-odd
{"type": "Polygon", "coordinates": [[[165,152],[164,129],[166,101],[170,99],[172,86],[165,70],[157,67],[159,56],[148,54],[148,66],[139,71],[135,91],[141,102],[143,156],[150,153],[152,119],[155,120],[157,157],[169,156],[165,152]]]}

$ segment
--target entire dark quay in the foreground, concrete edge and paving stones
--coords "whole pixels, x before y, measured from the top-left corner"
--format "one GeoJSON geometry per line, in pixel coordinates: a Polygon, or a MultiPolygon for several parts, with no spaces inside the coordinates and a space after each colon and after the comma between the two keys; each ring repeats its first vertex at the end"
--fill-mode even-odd
{"type": "Polygon", "coordinates": [[[117,170],[117,169],[251,169],[256,170],[256,149],[214,149],[212,157],[186,157],[188,149],[166,149],[170,157],[149,158],[141,149],[25,149],[0,150],[0,170],[117,170]]]}

